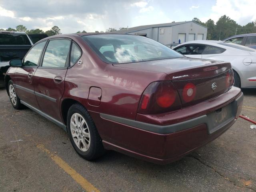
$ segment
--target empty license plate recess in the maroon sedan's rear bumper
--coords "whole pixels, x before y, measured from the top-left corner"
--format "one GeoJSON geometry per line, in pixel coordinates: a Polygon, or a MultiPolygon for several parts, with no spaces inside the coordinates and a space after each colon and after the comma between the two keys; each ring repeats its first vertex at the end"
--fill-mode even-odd
{"type": "Polygon", "coordinates": [[[208,134],[212,134],[224,127],[226,124],[234,120],[236,115],[236,110],[234,109],[234,102],[215,110],[207,114],[208,122],[208,134]]]}

